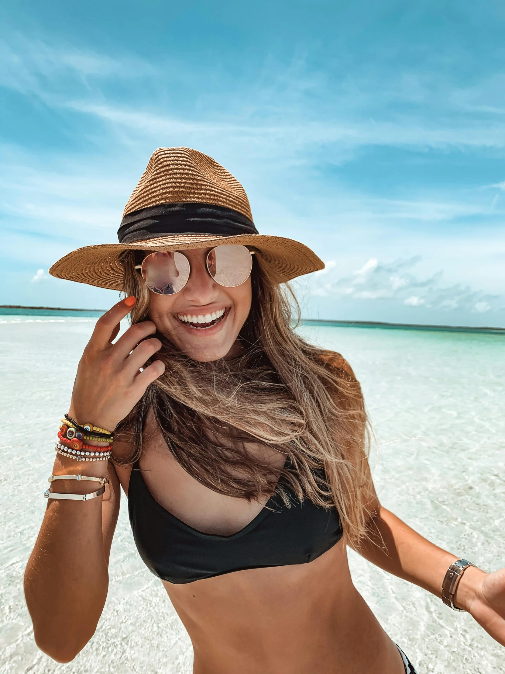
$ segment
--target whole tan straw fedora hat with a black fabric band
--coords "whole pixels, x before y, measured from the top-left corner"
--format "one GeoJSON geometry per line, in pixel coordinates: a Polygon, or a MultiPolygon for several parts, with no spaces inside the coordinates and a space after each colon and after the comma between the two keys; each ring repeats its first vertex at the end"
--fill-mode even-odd
{"type": "Polygon", "coordinates": [[[259,234],[244,188],[226,168],[190,148],[158,148],[125,206],[119,243],[79,248],[49,270],[57,278],[123,289],[123,251],[175,251],[236,243],[255,249],[279,282],[324,268],[310,248],[259,234]]]}

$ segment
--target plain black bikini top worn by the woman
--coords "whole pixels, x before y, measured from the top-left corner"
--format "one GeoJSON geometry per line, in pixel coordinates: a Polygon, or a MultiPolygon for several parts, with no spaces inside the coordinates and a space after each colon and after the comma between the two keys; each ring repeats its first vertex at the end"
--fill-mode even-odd
{"type": "Polygon", "coordinates": [[[300,503],[294,496],[291,501],[286,508],[275,494],[243,529],[217,536],[184,524],[162,508],[137,464],[128,487],[130,524],[140,556],[155,576],[177,584],[244,569],[304,564],[340,541],[343,530],[336,508],[300,503]]]}

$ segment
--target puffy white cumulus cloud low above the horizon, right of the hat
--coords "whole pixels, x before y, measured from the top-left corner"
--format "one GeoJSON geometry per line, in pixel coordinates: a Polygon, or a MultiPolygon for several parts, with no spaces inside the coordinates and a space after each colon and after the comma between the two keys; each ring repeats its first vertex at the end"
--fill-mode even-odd
{"type": "Polygon", "coordinates": [[[420,261],[419,256],[383,263],[371,258],[350,276],[339,278],[334,260],[321,272],[312,274],[308,284],[310,293],[318,297],[355,300],[393,300],[407,307],[425,307],[438,311],[463,309],[477,313],[505,309],[505,298],[488,295],[482,290],[455,284],[442,285],[443,272],[428,278],[418,278],[411,270],[420,261]]]}

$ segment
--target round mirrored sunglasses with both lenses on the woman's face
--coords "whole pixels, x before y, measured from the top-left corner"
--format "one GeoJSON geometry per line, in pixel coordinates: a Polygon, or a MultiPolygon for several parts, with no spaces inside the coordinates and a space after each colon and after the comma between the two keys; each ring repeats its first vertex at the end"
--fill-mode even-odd
{"type": "MultiPolygon", "coordinates": [[[[249,278],[255,251],[242,245],[222,245],[212,248],[205,258],[207,272],[225,288],[240,286],[249,278]]],[[[157,295],[174,295],[187,284],[191,266],[184,253],[156,251],[136,264],[146,286],[157,295]]]]}

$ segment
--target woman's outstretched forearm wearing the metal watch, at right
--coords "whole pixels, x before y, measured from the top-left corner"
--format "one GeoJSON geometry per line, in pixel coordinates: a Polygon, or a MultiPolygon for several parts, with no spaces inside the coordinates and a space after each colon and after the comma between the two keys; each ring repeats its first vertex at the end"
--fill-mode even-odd
{"type": "MultiPolygon", "coordinates": [[[[359,550],[360,554],[384,571],[408,580],[440,597],[442,581],[456,555],[430,543],[380,506],[370,526],[371,539],[359,550]]],[[[459,583],[456,603],[467,609],[484,572],[468,568],[459,583]]]]}

